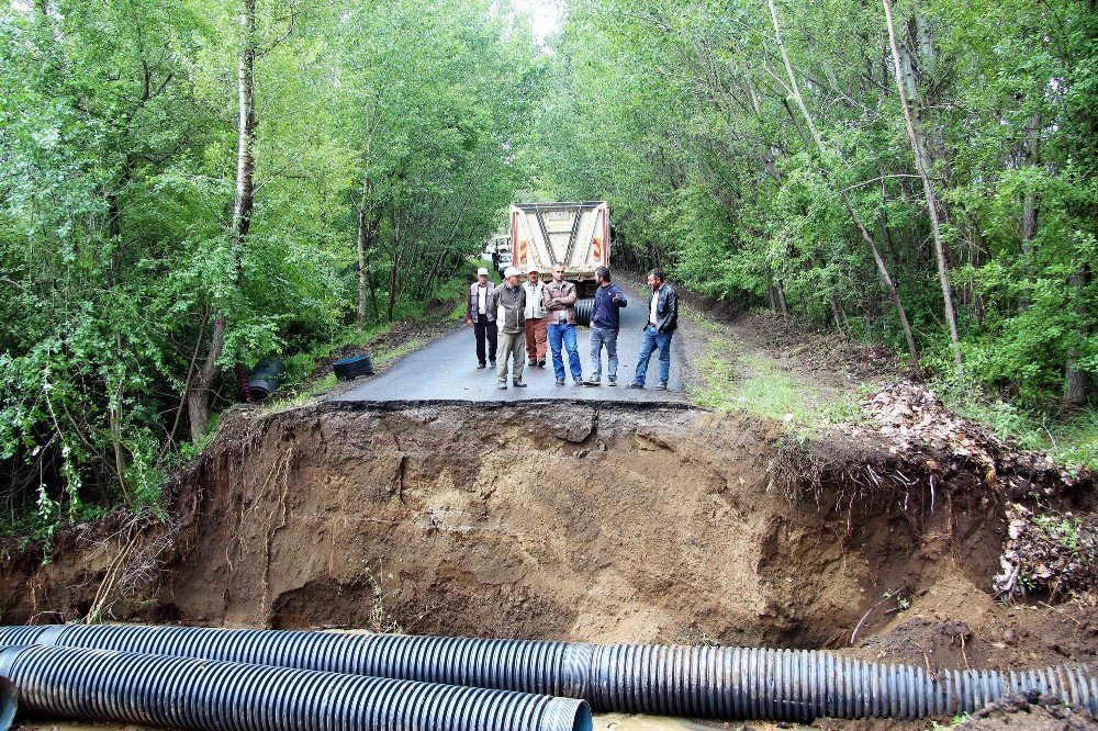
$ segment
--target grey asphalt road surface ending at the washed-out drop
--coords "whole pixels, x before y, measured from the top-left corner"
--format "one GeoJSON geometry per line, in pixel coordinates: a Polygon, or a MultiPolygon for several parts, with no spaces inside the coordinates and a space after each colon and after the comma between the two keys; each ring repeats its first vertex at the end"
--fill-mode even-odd
{"type": "MultiPolygon", "coordinates": [[[[643,324],[648,318],[645,304],[647,289],[623,286],[629,304],[621,311],[621,329],[618,333],[618,383],[606,384],[606,355],[603,351],[603,385],[578,386],[571,375],[563,386],[557,385],[552,370],[552,353],[547,353],[545,368],[527,366],[523,372],[526,389],[516,389],[507,379],[507,390],[498,387],[496,371],[491,367],[477,368],[473,328],[447,335],[417,350],[376,376],[362,376],[354,389],[333,396],[334,401],[523,401],[535,398],[570,398],[581,401],[624,402],[683,402],[682,331],[671,340],[671,381],[668,391],[652,391],[659,380],[659,351],[652,355],[643,390],[626,389],[632,382],[643,339],[643,324]]],[[[576,345],[583,375],[591,373],[591,330],[578,328],[576,345]]],[[[565,356],[565,371],[568,369],[565,356]]]]}

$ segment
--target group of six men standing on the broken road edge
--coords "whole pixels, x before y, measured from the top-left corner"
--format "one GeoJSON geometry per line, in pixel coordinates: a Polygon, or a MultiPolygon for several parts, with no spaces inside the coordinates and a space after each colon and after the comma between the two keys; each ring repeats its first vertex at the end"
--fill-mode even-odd
{"type": "MultiPolygon", "coordinates": [[[[526,281],[523,272],[514,267],[504,271],[503,284],[489,279],[488,269],[481,269],[469,286],[466,322],[473,326],[477,338],[477,368],[496,369],[500,387],[511,384],[525,389],[523,371],[526,366],[545,368],[546,355],[551,353],[557,385],[562,386],[565,375],[575,385],[602,385],[603,350],[606,351],[607,385],[617,385],[617,336],[620,329],[619,311],[627,306],[625,292],[610,281],[610,270],[595,270],[597,286],[591,311],[591,375],[583,378],[575,334],[575,284],[564,279],[564,266],[557,265],[549,282],[541,280],[541,272],[530,267],[526,281]],[[525,352],[524,352],[525,351],[525,352]],[[568,373],[564,369],[568,355],[568,373]],[[497,359],[498,356],[498,359],[497,359]],[[498,364],[496,364],[498,362],[498,364]]],[[[666,281],[662,269],[648,272],[648,322],[640,358],[630,389],[643,389],[652,353],[659,350],[659,382],[656,391],[666,391],[671,375],[671,337],[679,325],[679,295],[666,281]]]]}

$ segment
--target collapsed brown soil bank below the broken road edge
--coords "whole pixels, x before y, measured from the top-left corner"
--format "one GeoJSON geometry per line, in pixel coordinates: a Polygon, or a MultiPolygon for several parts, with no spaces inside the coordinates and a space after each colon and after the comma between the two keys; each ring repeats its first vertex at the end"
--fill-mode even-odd
{"type": "MultiPolygon", "coordinates": [[[[170,541],[163,527],[137,540],[168,547],[157,580],[104,606],[188,623],[794,646],[843,646],[864,618],[874,657],[1093,660],[1087,620],[986,593],[997,499],[946,504],[938,485],[937,503],[855,511],[791,501],[771,474],[777,435],[744,416],[559,402],[237,413],[178,477],[170,541]]],[[[4,621],[87,612],[111,565],[117,586],[137,585],[114,544],[101,558],[63,546],[45,571],[9,561],[4,621]]]]}

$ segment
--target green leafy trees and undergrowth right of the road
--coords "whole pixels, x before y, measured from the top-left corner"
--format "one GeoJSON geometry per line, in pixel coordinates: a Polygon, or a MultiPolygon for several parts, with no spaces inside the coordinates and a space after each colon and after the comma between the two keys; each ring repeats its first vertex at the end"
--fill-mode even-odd
{"type": "MultiPolygon", "coordinates": [[[[964,378],[1047,409],[1069,361],[1098,366],[1098,18],[1079,0],[895,4],[964,378]]],[[[575,0],[544,70],[539,190],[609,196],[625,263],[657,259],[701,293],[904,352],[842,190],[897,282],[922,366],[959,375],[882,7],[776,8],[822,155],[766,3],[575,0]]]]}

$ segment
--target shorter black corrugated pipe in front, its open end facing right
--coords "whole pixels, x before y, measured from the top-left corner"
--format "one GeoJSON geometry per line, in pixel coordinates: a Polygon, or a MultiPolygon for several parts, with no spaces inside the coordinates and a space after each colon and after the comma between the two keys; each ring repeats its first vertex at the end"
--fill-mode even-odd
{"type": "Polygon", "coordinates": [[[193,657],[8,648],[0,675],[32,712],[195,731],[591,731],[572,698],[193,657]]]}

